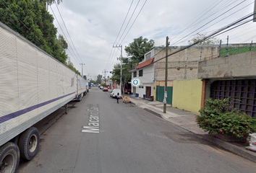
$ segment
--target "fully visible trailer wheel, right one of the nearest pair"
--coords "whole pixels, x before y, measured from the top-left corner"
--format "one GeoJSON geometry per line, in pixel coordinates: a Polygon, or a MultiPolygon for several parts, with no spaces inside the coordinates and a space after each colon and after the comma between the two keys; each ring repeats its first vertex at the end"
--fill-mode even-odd
{"type": "Polygon", "coordinates": [[[31,160],[37,154],[39,146],[39,132],[37,128],[29,128],[20,136],[19,148],[22,159],[31,160]]]}

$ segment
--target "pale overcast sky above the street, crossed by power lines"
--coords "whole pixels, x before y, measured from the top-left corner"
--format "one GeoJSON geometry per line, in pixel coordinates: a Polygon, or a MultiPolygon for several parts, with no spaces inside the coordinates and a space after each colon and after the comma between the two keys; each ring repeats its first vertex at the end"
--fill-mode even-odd
{"type": "MultiPolygon", "coordinates": [[[[254,1],[63,0],[58,8],[52,4],[48,11],[55,14],[54,25],[69,43],[67,53],[74,67],[82,73],[80,63],[85,63],[83,74],[96,79],[119,63],[116,58],[121,51],[113,45],[122,45],[124,57],[125,46],[140,36],[154,40],[155,46],[164,45],[166,36],[171,45],[187,45],[198,32],[210,35],[251,14],[254,1]]],[[[256,22],[247,22],[217,38],[223,44],[228,35],[229,43],[256,42],[255,30],[256,22]]]]}

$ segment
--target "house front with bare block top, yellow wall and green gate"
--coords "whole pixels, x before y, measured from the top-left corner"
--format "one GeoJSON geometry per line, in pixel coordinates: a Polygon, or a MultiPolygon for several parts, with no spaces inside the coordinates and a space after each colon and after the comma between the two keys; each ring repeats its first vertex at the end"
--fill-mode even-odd
{"type": "MultiPolygon", "coordinates": [[[[202,81],[197,79],[198,63],[218,57],[219,45],[195,45],[168,47],[168,82],[166,102],[173,107],[198,113],[202,99],[202,81]]],[[[165,90],[166,48],[155,48],[155,100],[163,102],[165,90]],[[163,58],[163,59],[161,59],[163,58]],[[161,60],[160,60],[161,59],[161,60]],[[159,61],[160,60],[160,61],[159,61]]]]}

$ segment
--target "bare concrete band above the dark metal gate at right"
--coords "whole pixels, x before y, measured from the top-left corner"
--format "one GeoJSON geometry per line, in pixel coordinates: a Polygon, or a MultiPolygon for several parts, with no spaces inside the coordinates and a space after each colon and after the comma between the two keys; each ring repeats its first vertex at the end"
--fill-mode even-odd
{"type": "Polygon", "coordinates": [[[198,78],[218,79],[256,76],[256,52],[239,53],[199,63],[198,78]]]}

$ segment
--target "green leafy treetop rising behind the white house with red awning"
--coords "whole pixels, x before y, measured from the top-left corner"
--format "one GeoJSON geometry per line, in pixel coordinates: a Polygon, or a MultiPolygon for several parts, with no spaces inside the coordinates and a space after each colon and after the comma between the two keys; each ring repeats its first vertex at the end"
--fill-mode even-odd
{"type": "Polygon", "coordinates": [[[138,63],[143,61],[144,58],[142,58],[142,56],[149,50],[153,49],[154,45],[154,40],[148,40],[148,38],[140,36],[135,38],[128,46],[125,46],[124,50],[133,62],[138,63]]]}

